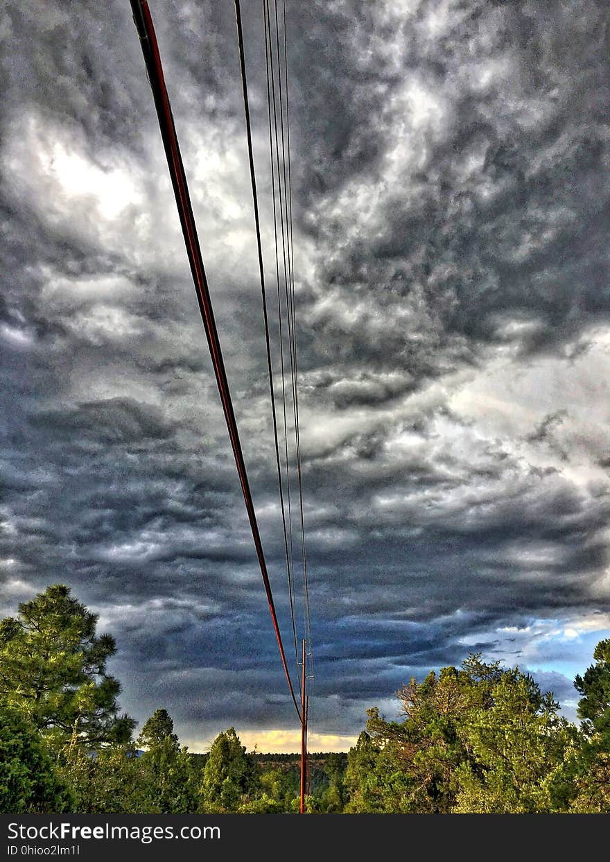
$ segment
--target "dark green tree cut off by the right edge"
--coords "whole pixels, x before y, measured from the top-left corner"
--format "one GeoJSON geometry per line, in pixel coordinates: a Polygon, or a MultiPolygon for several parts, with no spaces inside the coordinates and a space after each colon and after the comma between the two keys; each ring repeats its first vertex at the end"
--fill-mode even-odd
{"type": "Polygon", "coordinates": [[[576,798],[579,813],[610,813],[610,640],[601,640],[593,653],[595,664],[574,685],[582,695],[577,715],[582,719],[581,746],[576,760],[576,798]]]}

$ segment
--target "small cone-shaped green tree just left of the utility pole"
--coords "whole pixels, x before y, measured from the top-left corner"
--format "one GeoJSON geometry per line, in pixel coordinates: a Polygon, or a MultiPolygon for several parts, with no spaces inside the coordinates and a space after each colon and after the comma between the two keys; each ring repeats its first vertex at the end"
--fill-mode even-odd
{"type": "Polygon", "coordinates": [[[258,767],[235,728],[218,734],[203,770],[202,802],[205,811],[235,811],[260,786],[258,767]]]}

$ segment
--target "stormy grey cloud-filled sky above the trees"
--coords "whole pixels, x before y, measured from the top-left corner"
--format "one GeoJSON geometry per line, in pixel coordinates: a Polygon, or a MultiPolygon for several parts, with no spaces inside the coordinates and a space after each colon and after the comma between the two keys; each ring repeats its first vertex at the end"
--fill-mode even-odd
{"type": "MultiPolygon", "coordinates": [[[[289,646],[233,3],[151,8],[289,646]]],[[[573,715],[610,634],[607,4],[286,9],[311,746],[469,651],[573,715]]],[[[0,613],[69,584],[139,721],[294,750],[129,3],[8,0],[0,38],[0,613]]]]}

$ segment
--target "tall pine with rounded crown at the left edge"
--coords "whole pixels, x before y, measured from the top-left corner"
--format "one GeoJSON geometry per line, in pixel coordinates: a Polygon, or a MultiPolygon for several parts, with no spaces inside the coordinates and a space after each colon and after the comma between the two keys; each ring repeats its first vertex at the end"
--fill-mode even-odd
{"type": "Polygon", "coordinates": [[[115,640],[97,637],[96,622],[62,584],[0,622],[0,701],[59,742],[121,742],[135,726],[118,715],[121,686],[106,672],[115,640]]]}

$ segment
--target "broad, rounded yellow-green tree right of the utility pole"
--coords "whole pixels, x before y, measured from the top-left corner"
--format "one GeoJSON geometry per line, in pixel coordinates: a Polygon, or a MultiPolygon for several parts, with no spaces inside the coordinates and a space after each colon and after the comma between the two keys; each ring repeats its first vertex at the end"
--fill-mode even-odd
{"type": "Polygon", "coordinates": [[[573,751],[558,705],[518,668],[470,655],[397,692],[404,721],[369,709],[348,755],[346,811],[565,809],[573,751]]]}

